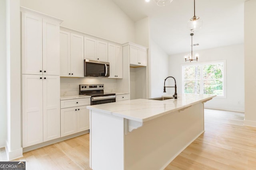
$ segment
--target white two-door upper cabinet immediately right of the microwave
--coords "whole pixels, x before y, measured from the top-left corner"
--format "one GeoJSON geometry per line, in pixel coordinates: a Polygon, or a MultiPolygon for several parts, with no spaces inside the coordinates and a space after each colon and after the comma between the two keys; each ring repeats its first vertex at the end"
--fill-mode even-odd
{"type": "Polygon", "coordinates": [[[108,78],[123,78],[123,53],[122,47],[108,43],[108,62],[110,76],[108,78]]]}

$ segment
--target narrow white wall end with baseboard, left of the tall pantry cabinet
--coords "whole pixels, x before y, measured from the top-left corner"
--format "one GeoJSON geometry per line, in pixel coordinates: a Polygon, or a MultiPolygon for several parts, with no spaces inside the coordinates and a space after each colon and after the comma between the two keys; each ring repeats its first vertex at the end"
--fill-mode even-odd
{"type": "Polygon", "coordinates": [[[21,68],[20,0],[6,1],[6,82],[8,160],[22,156],[21,147],[21,68]]]}

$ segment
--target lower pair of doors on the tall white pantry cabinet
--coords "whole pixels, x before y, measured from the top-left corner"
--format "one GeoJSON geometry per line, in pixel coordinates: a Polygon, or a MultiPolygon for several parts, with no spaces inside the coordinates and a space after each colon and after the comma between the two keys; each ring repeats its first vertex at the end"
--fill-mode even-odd
{"type": "Polygon", "coordinates": [[[60,137],[60,76],[22,75],[23,147],[60,137]]]}

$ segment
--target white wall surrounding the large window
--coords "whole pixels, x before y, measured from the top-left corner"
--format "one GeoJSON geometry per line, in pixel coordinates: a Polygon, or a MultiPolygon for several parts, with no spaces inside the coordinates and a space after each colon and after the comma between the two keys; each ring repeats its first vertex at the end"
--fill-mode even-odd
{"type": "MultiPolygon", "coordinates": [[[[195,52],[200,54],[198,63],[226,60],[226,98],[213,98],[205,103],[205,107],[244,111],[244,45],[231,45],[195,52]]],[[[183,58],[186,54],[171,55],[169,58],[169,72],[176,78],[178,96],[182,93],[181,65],[189,64],[185,63],[183,58]]],[[[196,61],[192,62],[196,63],[196,61]]]]}

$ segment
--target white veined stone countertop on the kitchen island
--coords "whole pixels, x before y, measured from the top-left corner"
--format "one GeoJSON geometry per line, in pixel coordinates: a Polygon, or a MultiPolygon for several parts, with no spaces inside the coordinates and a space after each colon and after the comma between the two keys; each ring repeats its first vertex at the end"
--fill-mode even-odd
{"type": "MultiPolygon", "coordinates": [[[[165,96],[170,97],[172,95],[165,96]]],[[[178,99],[163,101],[149,99],[124,100],[108,104],[87,106],[87,109],[133,121],[145,122],[174,111],[185,109],[199,102],[207,102],[215,96],[216,95],[211,94],[183,94],[178,97],[178,99]]]]}

